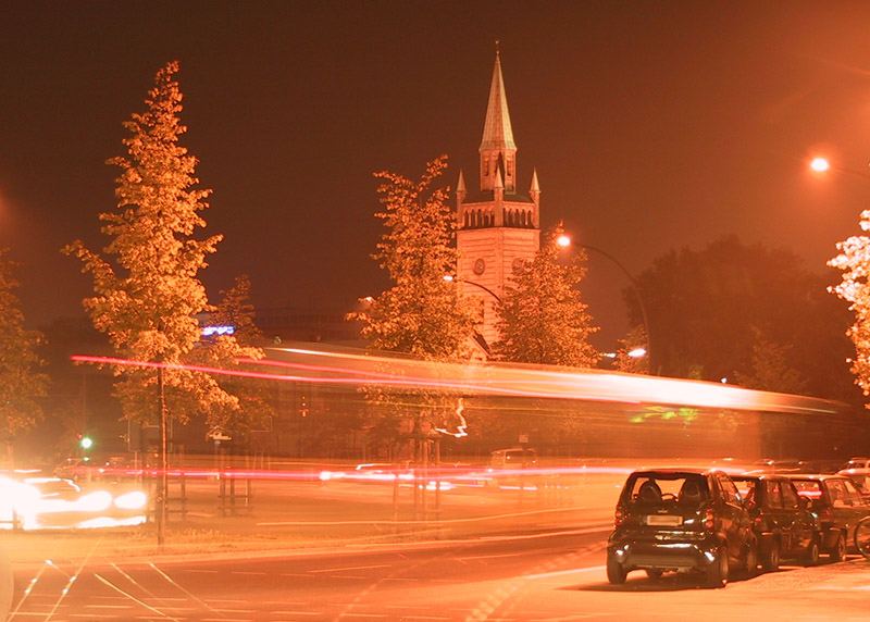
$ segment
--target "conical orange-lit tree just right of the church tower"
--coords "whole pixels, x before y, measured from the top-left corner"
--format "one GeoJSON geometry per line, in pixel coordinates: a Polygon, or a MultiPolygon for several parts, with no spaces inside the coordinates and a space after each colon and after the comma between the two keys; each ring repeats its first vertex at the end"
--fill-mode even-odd
{"type": "Polygon", "coordinates": [[[562,257],[556,240],[563,233],[558,225],[545,234],[502,296],[494,349],[506,361],[592,368],[598,360],[589,344],[598,327],[581,293],[586,253],[562,257]]]}

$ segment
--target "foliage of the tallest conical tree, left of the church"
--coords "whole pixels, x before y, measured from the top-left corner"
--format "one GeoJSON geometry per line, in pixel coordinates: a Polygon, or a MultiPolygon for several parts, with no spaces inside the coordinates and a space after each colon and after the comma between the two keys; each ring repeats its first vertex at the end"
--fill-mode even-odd
{"type": "MultiPolygon", "coordinates": [[[[116,209],[100,214],[101,231],[111,238],[99,254],[80,240],[64,250],[90,273],[95,295],[84,300],[97,329],[109,336],[116,352],[136,361],[183,365],[196,360],[200,347],[198,315],[210,310],[198,278],[222,236],[199,239],[206,226],[200,213],[211,190],[198,188],[197,160],[179,145],[182,92],[170,62],[157,73],[146,110],[124,127],[126,154],[109,160],[121,169],[115,183],[116,209]]],[[[210,347],[213,361],[259,357],[232,337],[210,347]]],[[[139,421],[158,415],[157,373],[117,366],[115,385],[125,416],[139,421]]],[[[186,421],[203,412],[213,425],[238,410],[238,399],[214,377],[177,366],[166,370],[166,401],[172,416],[186,421]]]]}

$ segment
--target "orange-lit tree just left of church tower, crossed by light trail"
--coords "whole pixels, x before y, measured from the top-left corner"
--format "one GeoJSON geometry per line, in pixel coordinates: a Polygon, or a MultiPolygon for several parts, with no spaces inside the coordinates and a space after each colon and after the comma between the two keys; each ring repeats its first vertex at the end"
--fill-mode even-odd
{"type": "MultiPolygon", "coordinates": [[[[435,187],[447,167],[442,156],[426,164],[419,181],[382,171],[377,195],[382,209],[375,216],[386,232],[372,258],[389,274],[393,286],[376,298],[363,299],[362,310],[348,314],[362,323],[372,348],[411,354],[431,361],[465,361],[471,354],[476,315],[455,283],[444,279],[456,270],[456,215],[447,203],[448,190],[435,187]]],[[[419,427],[440,409],[451,408],[432,391],[369,389],[374,403],[396,408],[374,409],[385,422],[372,430],[391,430],[412,419],[419,427]]]]}

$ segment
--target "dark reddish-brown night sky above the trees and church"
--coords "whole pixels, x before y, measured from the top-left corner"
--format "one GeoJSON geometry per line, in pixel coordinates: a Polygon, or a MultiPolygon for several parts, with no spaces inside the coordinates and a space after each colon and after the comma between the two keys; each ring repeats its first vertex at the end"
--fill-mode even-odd
{"type": "MultiPolygon", "coordinates": [[[[0,10],[0,245],[27,322],[82,314],[59,249],[108,241],[121,124],[178,59],[185,145],[213,188],[212,300],[248,273],[261,307],[343,311],[377,294],[372,172],[447,153],[476,183],[501,41],[520,189],[545,226],[633,273],[725,234],[824,269],[870,178],[870,4],[809,2],[34,2],[0,10]]],[[[592,257],[586,298],[624,329],[627,279],[592,257]]]]}

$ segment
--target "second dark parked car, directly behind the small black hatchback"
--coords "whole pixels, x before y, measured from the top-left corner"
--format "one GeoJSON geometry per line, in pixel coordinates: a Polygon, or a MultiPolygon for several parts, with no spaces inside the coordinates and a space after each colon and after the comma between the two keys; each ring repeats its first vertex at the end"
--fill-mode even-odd
{"type": "Polygon", "coordinates": [[[805,565],[819,562],[819,521],[791,480],[775,474],[731,478],[753,519],[758,557],[766,571],[778,570],[781,559],[798,559],[805,565]]]}

